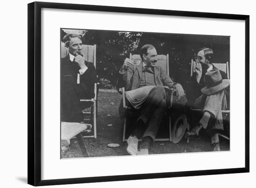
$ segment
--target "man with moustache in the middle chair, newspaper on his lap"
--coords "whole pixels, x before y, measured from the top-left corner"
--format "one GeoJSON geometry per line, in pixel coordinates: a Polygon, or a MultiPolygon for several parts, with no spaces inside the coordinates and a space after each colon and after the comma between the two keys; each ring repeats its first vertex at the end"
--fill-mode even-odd
{"type": "MultiPolygon", "coordinates": [[[[138,110],[135,130],[128,138],[127,151],[130,155],[148,155],[148,149],[155,140],[163,114],[166,110],[166,91],[164,86],[175,88],[177,95],[184,95],[182,85],[171,80],[164,74],[162,67],[157,66],[157,52],[151,44],[141,48],[141,63],[136,65],[126,58],[120,73],[123,76],[128,106],[138,110]],[[144,131],[145,130],[145,131],[144,131]],[[142,143],[138,150],[138,138],[142,143]]],[[[119,108],[120,116],[124,116],[122,103],[119,108]]]]}

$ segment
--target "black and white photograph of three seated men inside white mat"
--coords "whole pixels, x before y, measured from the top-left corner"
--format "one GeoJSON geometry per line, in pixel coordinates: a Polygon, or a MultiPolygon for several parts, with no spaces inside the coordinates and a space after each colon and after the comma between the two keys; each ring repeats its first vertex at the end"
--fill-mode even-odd
{"type": "Polygon", "coordinates": [[[61,159],[230,150],[230,36],[60,28],[61,159]]]}

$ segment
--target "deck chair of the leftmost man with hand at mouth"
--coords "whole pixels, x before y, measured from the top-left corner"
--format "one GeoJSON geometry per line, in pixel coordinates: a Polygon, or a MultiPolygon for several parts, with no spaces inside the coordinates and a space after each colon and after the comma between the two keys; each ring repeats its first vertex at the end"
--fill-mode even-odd
{"type": "MultiPolygon", "coordinates": [[[[85,45],[82,44],[82,53],[84,54],[84,58],[86,61],[94,63],[94,67],[96,69],[96,45],[85,45]]],[[[65,44],[61,42],[61,58],[67,56],[68,50],[65,47],[65,44]]],[[[97,138],[97,130],[96,130],[96,116],[97,116],[97,95],[98,88],[97,83],[94,83],[94,98],[92,99],[80,99],[81,102],[91,103],[90,111],[83,110],[84,120],[93,125],[94,135],[83,136],[84,138],[97,138]]]]}

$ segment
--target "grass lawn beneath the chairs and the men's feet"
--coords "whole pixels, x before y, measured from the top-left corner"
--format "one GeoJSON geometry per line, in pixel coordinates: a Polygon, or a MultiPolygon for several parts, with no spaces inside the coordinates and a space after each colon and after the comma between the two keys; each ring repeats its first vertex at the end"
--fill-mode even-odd
{"type": "MultiPolygon", "coordinates": [[[[98,95],[97,138],[85,138],[90,157],[125,156],[127,143],[122,142],[123,121],[119,118],[118,107],[121,94],[113,90],[100,90],[98,95]],[[109,148],[109,143],[120,144],[117,148],[109,148]]],[[[229,141],[220,137],[221,149],[229,150],[229,141]]],[[[140,143],[139,143],[140,144],[140,143]]],[[[209,136],[187,143],[186,138],[174,144],[169,141],[157,141],[150,148],[149,154],[183,153],[212,151],[209,136]]],[[[75,139],[71,139],[69,151],[63,158],[81,157],[81,151],[75,139]]]]}

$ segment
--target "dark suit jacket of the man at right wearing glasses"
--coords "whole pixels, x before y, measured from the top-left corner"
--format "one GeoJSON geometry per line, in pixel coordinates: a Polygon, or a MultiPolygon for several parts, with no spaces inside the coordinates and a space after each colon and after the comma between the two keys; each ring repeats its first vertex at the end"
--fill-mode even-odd
{"type": "MultiPolygon", "coordinates": [[[[213,65],[213,69],[217,69],[213,65]]],[[[199,83],[196,81],[196,73],[194,72],[193,75],[190,78],[190,81],[187,84],[186,88],[186,98],[188,99],[188,104],[193,105],[195,103],[195,100],[202,95],[201,89],[205,87],[204,84],[204,75],[206,73],[206,70],[202,70],[202,77],[199,81],[199,83]]],[[[228,79],[227,74],[220,70],[222,79],[228,79]]],[[[229,88],[225,89],[225,92],[227,94],[227,100],[229,100],[229,88]]],[[[229,101],[227,101],[229,103],[229,101]]],[[[229,106],[229,104],[228,104],[229,106]]]]}

